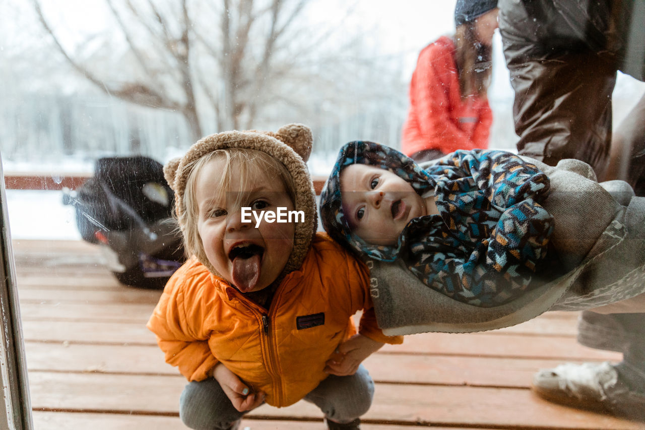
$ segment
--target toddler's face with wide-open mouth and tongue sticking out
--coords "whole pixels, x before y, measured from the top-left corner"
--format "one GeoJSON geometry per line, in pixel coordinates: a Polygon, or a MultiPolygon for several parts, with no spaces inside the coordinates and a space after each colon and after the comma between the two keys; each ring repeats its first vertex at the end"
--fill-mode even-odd
{"type": "Polygon", "coordinates": [[[247,178],[248,190],[242,190],[247,192],[240,190],[239,170],[232,172],[230,190],[218,192],[224,163],[223,159],[212,159],[197,177],[197,230],[208,261],[224,279],[241,292],[259,291],[283,271],[293,249],[295,224],[263,219],[255,227],[253,215],[251,222],[242,222],[241,208],[250,207],[259,216],[261,210],[293,210],[293,201],[281,179],[258,170],[247,178]],[[237,202],[241,194],[243,199],[237,202]]]}

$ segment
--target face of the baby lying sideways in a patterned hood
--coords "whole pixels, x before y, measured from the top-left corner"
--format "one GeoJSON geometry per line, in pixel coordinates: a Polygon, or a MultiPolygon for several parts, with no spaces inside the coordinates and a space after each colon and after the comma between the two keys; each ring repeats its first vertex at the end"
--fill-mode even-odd
{"type": "Polygon", "coordinates": [[[426,215],[426,205],[405,179],[364,164],[341,172],[342,213],[362,240],[395,245],[408,221],[426,215]]]}

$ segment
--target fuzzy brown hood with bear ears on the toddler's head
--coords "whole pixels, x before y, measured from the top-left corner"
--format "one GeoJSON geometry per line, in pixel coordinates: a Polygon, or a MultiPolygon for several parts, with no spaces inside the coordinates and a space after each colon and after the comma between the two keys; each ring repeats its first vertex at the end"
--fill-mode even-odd
{"type": "MultiPolygon", "coordinates": [[[[199,139],[192,147],[188,148],[183,157],[171,159],[164,166],[164,177],[175,191],[175,215],[183,234],[186,234],[184,192],[194,161],[218,149],[248,148],[260,150],[280,161],[286,167],[286,170],[290,172],[295,183],[295,210],[304,212],[304,222],[295,224],[293,251],[281,276],[298,269],[309,250],[318,225],[315,192],[313,191],[312,178],[306,165],[306,161],[312,151],[312,145],[312,131],[309,127],[301,124],[285,125],[277,132],[232,130],[211,134],[199,139]]],[[[213,274],[219,276],[203,253],[197,255],[197,258],[213,274]]]]}

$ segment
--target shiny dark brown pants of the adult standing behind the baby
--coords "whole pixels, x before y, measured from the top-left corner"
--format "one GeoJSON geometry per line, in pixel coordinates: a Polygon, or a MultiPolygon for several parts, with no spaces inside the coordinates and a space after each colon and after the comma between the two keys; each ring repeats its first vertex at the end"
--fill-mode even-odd
{"type": "Polygon", "coordinates": [[[500,0],[499,8],[520,154],[549,165],[577,158],[602,174],[616,72],[645,77],[645,5],[500,0]]]}

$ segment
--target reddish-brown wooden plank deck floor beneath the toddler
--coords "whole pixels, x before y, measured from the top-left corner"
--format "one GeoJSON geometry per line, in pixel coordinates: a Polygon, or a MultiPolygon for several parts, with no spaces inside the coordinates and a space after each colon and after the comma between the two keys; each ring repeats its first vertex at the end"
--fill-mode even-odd
{"type": "MultiPolygon", "coordinates": [[[[14,241],[26,358],[37,430],[185,428],[185,380],[163,361],[144,324],[159,291],[116,282],[82,241],[14,241]]],[[[366,361],[377,389],[363,429],[645,429],[541,400],[529,389],[541,367],[619,360],[575,341],[577,314],[548,312],[478,334],[417,334],[366,361]]],[[[242,428],[323,429],[299,402],[263,406],[242,428]]]]}

